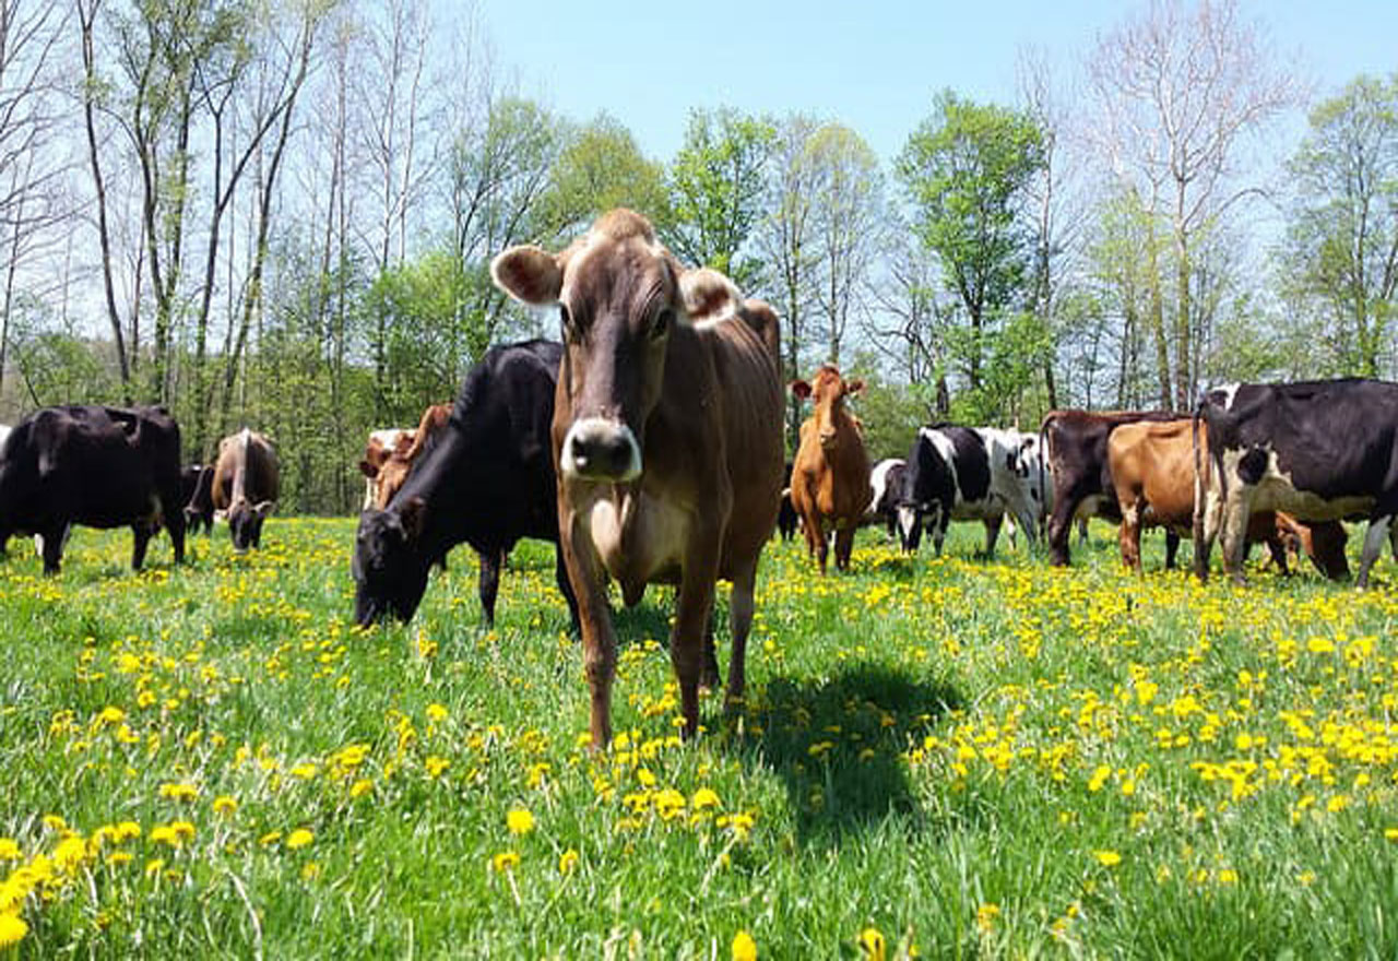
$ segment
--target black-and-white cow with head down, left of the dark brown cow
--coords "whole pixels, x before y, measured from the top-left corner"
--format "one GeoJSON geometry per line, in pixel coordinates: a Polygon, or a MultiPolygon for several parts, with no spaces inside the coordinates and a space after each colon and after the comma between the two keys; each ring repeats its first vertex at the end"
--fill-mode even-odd
{"type": "Polygon", "coordinates": [[[913,440],[898,503],[905,550],[917,550],[921,529],[938,555],[951,521],[986,524],[986,555],[994,556],[1005,514],[1035,542],[1039,513],[1030,501],[1021,453],[1029,434],[995,427],[923,427],[913,440]]]}

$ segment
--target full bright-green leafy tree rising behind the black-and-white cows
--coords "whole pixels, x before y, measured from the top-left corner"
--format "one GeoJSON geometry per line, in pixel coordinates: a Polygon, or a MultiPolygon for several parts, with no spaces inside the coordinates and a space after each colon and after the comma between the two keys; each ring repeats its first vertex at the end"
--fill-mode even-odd
{"type": "Polygon", "coordinates": [[[898,158],[913,230],[965,311],[949,346],[973,393],[986,386],[993,339],[1023,289],[1030,236],[1021,201],[1042,168],[1043,138],[1028,116],[951,91],[898,158]]]}

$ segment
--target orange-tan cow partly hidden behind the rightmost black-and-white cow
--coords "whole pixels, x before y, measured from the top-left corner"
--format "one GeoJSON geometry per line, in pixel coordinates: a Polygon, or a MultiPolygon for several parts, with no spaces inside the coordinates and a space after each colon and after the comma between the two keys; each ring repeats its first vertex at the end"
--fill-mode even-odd
{"type": "MultiPolygon", "coordinates": [[[[1163,527],[1176,535],[1166,539],[1166,568],[1174,567],[1180,538],[1192,534],[1194,453],[1190,432],[1190,420],[1186,419],[1125,423],[1113,430],[1107,441],[1107,465],[1121,508],[1121,563],[1137,573],[1141,573],[1142,527],[1163,527]]],[[[1205,451],[1206,441],[1201,429],[1199,446],[1205,451]]],[[[1338,521],[1307,525],[1274,511],[1253,514],[1247,529],[1247,542],[1265,543],[1283,574],[1288,573],[1286,538],[1293,539],[1323,574],[1334,575],[1339,568],[1348,573],[1345,536],[1338,521]]]]}

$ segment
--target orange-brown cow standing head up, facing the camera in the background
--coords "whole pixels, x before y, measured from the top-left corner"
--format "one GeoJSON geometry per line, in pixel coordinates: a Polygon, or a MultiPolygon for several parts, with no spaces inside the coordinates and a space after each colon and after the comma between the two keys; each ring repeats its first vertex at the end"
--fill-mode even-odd
{"type": "Polygon", "coordinates": [[[835,532],[835,567],[847,570],[854,532],[874,499],[864,430],[844,408],[844,398],[864,390],[863,380],[846,381],[833,365],[823,365],[811,383],[797,380],[791,393],[815,398],[815,409],[801,425],[801,446],[791,468],[791,507],[801,517],[805,546],[821,564],[835,532]]]}

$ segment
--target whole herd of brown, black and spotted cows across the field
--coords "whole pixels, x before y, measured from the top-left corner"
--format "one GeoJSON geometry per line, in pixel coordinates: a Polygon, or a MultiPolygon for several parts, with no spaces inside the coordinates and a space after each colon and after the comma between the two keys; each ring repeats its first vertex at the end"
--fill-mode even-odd
{"type": "MultiPolygon", "coordinates": [[[[800,527],[821,573],[850,564],[856,529],[885,524],[906,550],[951,521],[1046,538],[1067,564],[1088,517],[1120,524],[1123,562],[1141,568],[1145,527],[1166,531],[1166,566],[1192,536],[1195,571],[1222,536],[1240,577],[1250,542],[1285,570],[1288,552],[1348,577],[1342,520],[1367,520],[1359,584],[1383,542],[1398,553],[1398,384],[1338,380],[1232,386],[1191,415],[1054,411],[1037,433],[931,425],[907,457],[871,467],[847,401],[863,390],[825,365],[791,391],[812,401],[783,474],[783,388],[776,314],[721,274],[685,268],[637,214],[607,214],[558,253],[512,247],[491,268],[524,305],[558,313],[562,342],[487,352],[456,404],[415,429],[373,432],[359,469],[365,499],[351,571],[355,619],[408,620],[433,564],[467,543],[480,556],[485,620],[521,538],[555,545],[558,588],[582,636],[591,738],[611,736],[617,637],[608,588],[639,603],[674,584],[670,654],[684,729],[699,693],[720,683],[716,582],[731,584],[727,696],[744,693],[744,654],[763,545],[800,527]]],[[[161,408],[56,406],[29,415],[0,447],[0,550],[42,535],[56,573],[71,524],[126,527],[140,567],[157,529],[175,560],[186,524],[228,520],[233,546],[256,548],[277,501],[277,455],[261,434],[225,437],[212,467],[179,465],[180,437],[161,408]]]]}

